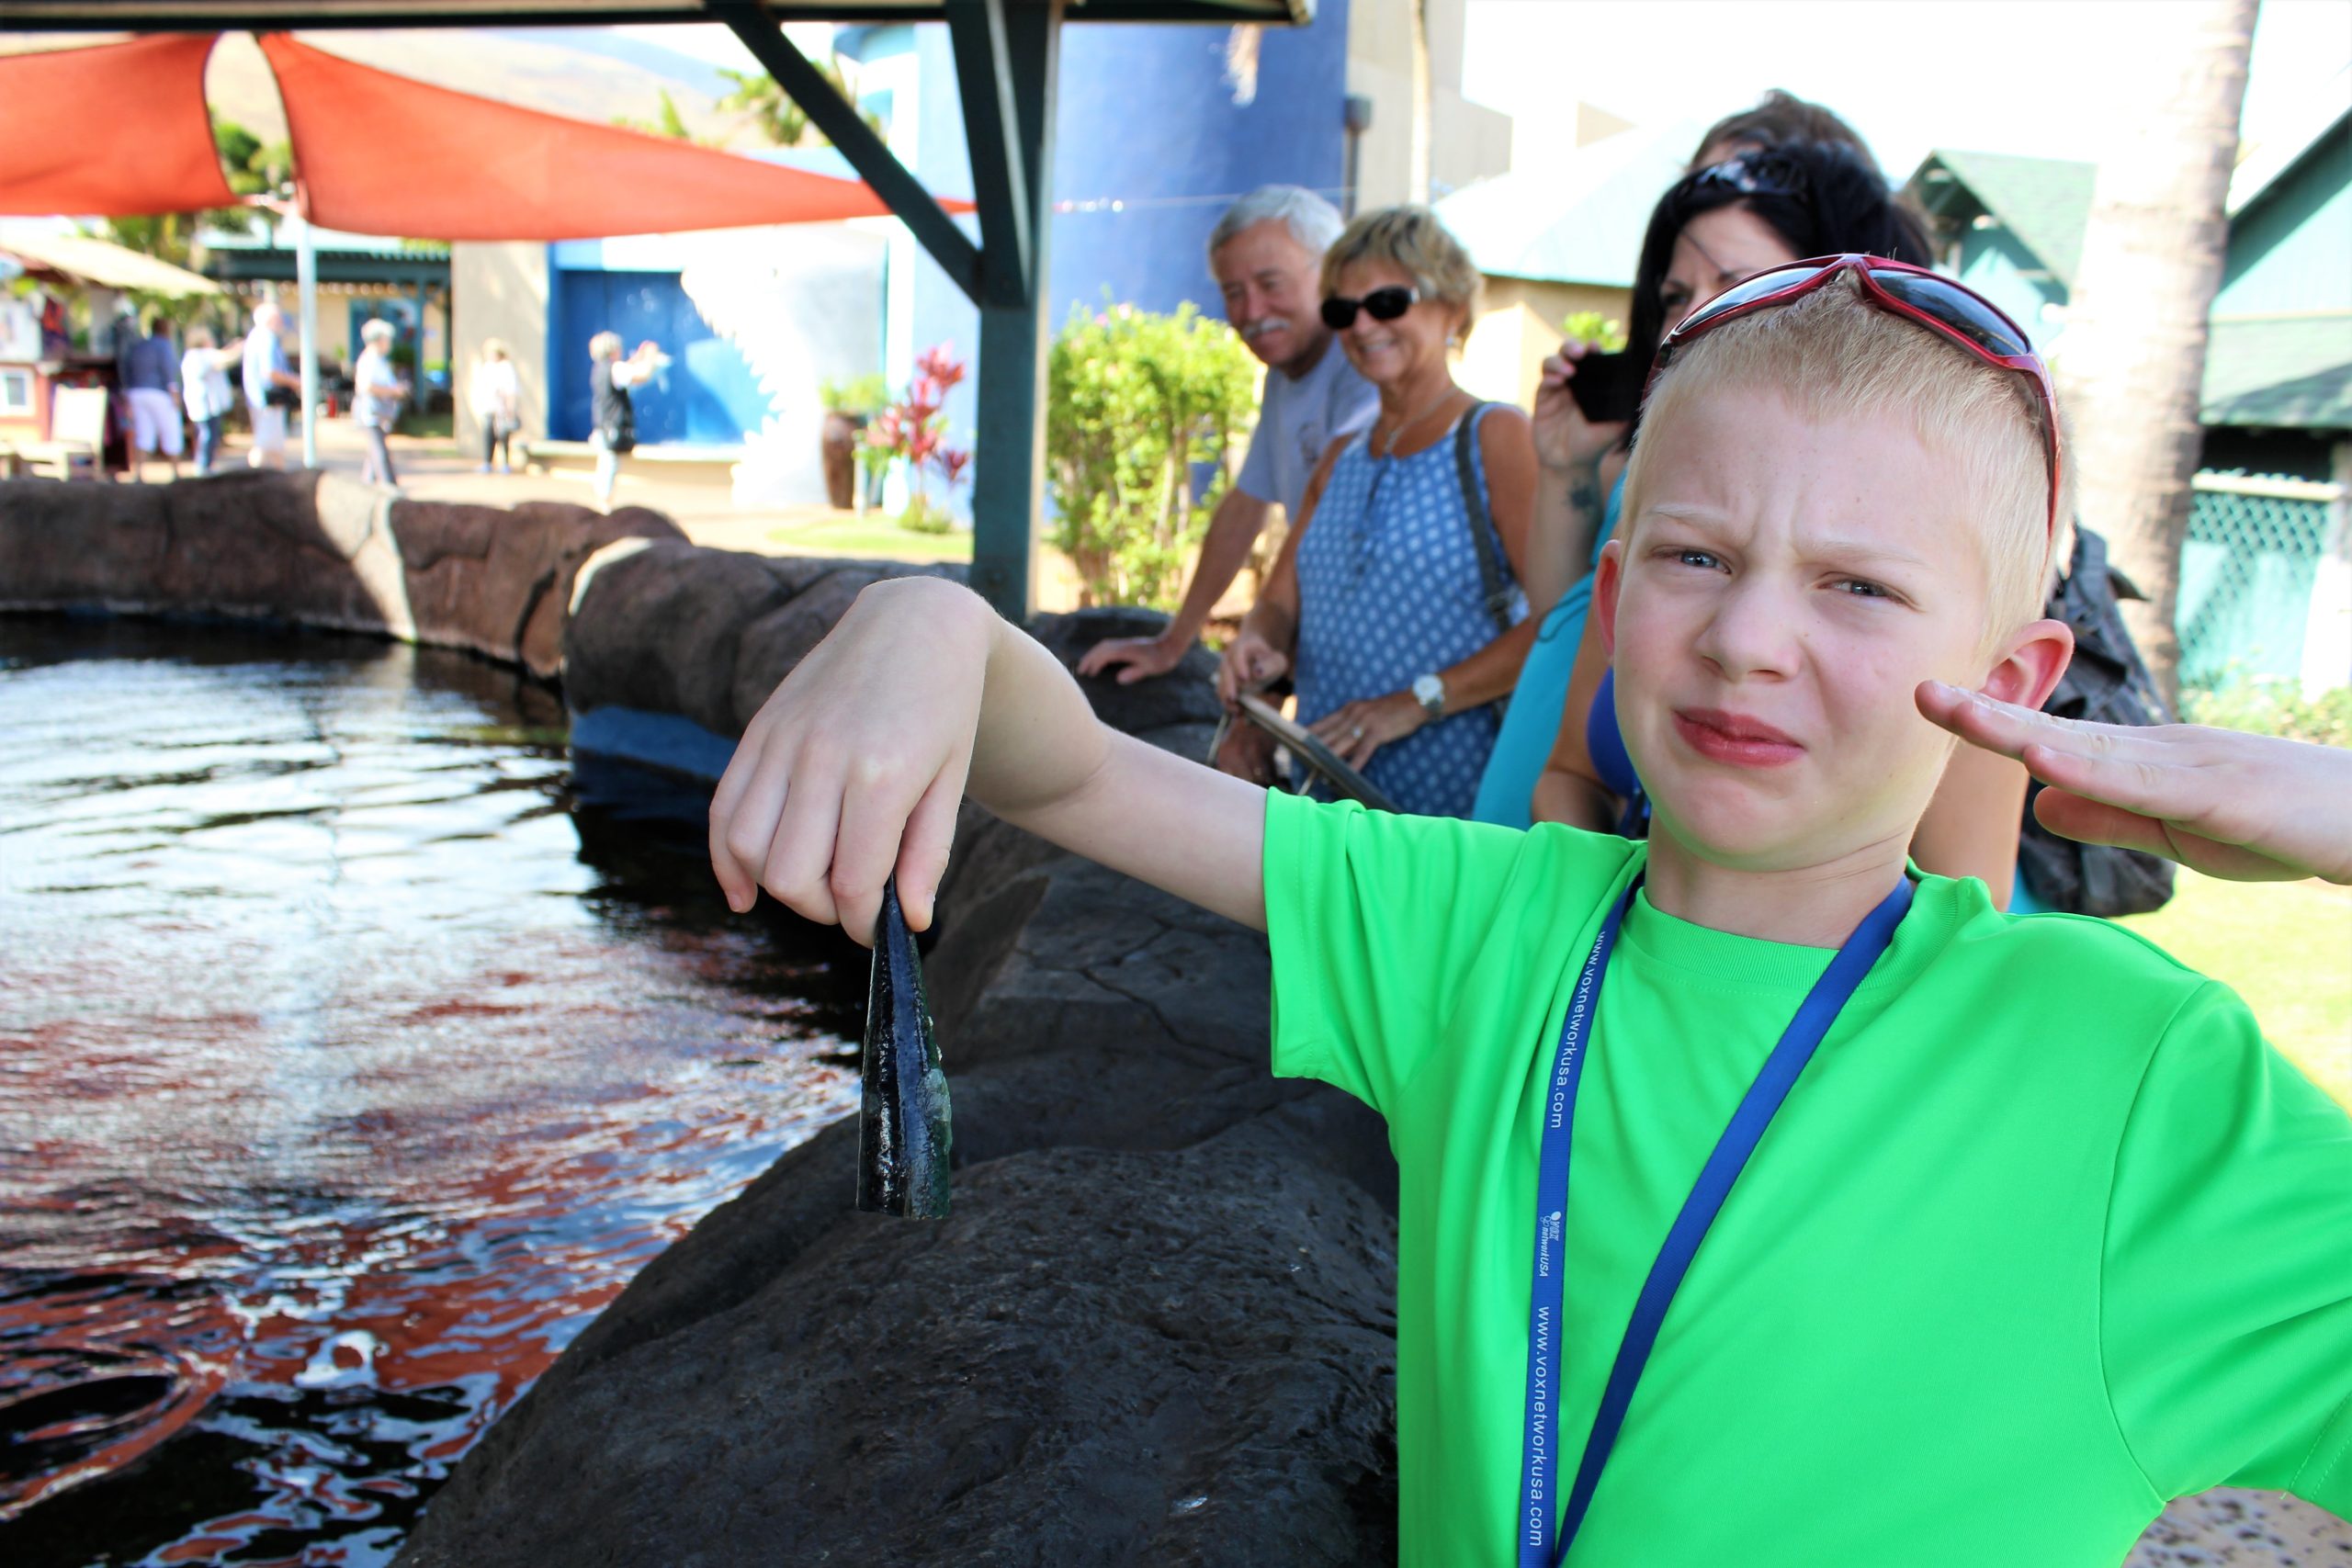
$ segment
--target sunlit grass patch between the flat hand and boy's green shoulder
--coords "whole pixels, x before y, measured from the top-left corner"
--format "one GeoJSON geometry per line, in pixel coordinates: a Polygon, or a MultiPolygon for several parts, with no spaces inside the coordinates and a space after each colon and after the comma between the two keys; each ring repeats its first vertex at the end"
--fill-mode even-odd
{"type": "Polygon", "coordinates": [[[2230,985],[2270,1044],[2352,1107],[2352,889],[2183,870],[2169,905],[2117,924],[2230,985]]]}

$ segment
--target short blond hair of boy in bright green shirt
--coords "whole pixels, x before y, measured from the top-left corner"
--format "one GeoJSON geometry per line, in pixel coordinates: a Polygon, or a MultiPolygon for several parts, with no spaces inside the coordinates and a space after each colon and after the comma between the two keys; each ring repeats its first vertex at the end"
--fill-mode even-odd
{"type": "MultiPolygon", "coordinates": [[[[1642,428],[1653,433],[1726,386],[1776,393],[1813,421],[1910,411],[1922,444],[1957,456],[1969,475],[1985,559],[1985,642],[2042,618],[2053,574],[2072,555],[2074,494],[2060,463],[2053,529],[2042,397],[2027,376],[1879,310],[1863,299],[1860,280],[1837,277],[1679,346],[1642,404],[1642,428]]],[[[2065,451],[2063,421],[2056,440],[2065,451]]],[[[1642,508],[1649,447],[1635,442],[1625,465],[1621,536],[1642,508]]]]}

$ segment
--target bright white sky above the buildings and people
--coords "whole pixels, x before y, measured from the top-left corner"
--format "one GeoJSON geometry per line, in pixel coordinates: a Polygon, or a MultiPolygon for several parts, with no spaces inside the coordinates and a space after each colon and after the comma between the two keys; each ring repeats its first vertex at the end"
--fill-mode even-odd
{"type": "MultiPolygon", "coordinates": [[[[1766,87],[1837,108],[1898,179],[1938,146],[2096,162],[2171,2],[1468,0],[1463,92],[1517,118],[1522,167],[1566,139],[1578,99],[1635,125],[1710,125],[1766,87]]],[[[750,68],[717,26],[621,31],[750,68]]],[[[823,47],[821,28],[800,42],[823,47]]],[[[2352,103],[2352,0],[2263,0],[2246,141],[2293,134],[2324,103],[2352,103]]]]}

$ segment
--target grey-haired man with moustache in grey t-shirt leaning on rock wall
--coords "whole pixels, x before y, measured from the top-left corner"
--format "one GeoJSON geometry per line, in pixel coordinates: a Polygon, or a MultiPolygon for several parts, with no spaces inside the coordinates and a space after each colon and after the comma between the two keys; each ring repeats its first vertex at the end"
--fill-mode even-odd
{"type": "Polygon", "coordinates": [[[1272,508],[1291,522],[1324,449],[1378,414],[1371,383],[1355,374],[1322,322],[1322,254],[1343,221],[1298,186],[1258,186],[1209,230],[1209,273],[1225,320],[1270,369],[1258,430],[1209,534],[1176,618],[1157,637],[1110,637],[1087,649],[1080,675],[1120,672],[1120,684],[1164,675],[1185,656],[1216,599],[1249,559],[1272,508]]]}

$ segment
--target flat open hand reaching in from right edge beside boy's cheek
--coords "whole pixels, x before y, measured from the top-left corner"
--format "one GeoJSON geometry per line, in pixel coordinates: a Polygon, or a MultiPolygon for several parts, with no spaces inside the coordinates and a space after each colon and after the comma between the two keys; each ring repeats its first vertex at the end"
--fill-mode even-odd
{"type": "Polygon", "coordinates": [[[2199,724],[2089,724],[1924,682],[1919,712],[2016,757],[2049,788],[2034,816],[2209,877],[2352,882],[2352,752],[2199,724]]]}

